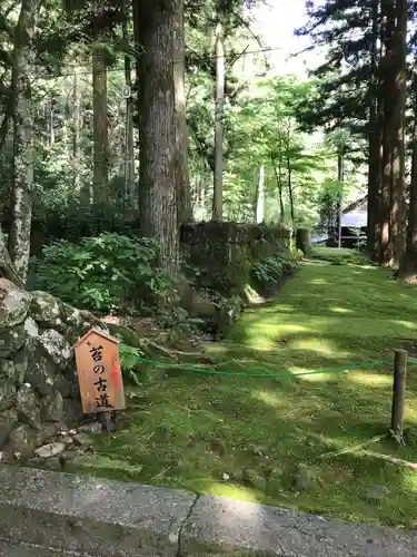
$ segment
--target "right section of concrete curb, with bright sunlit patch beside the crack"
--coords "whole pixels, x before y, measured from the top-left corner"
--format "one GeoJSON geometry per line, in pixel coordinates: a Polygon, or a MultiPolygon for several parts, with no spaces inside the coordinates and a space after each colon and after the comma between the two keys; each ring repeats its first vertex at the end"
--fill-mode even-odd
{"type": "Polygon", "coordinates": [[[416,557],[409,535],[266,505],[200,497],[182,527],[181,556],[416,557]]]}

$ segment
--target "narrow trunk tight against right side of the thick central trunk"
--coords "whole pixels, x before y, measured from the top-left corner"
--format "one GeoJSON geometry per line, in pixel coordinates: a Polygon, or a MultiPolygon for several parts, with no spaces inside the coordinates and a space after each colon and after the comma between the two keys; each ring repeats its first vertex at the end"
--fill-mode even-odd
{"type": "Polygon", "coordinates": [[[173,60],[176,80],[177,141],[179,145],[179,159],[177,163],[177,214],[178,224],[181,225],[182,223],[191,223],[193,221],[190,177],[188,173],[183,0],[179,2],[179,17],[175,35],[173,60]]]}

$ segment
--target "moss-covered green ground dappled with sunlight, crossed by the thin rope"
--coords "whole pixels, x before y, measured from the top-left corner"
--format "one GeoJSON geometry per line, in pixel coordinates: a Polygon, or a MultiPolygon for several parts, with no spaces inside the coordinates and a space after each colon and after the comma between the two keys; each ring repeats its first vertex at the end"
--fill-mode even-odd
{"type": "MultiPolygon", "coordinates": [[[[71,470],[417,527],[417,471],[391,459],[417,461],[417,436],[410,447],[374,440],[389,423],[391,364],[291,377],[390,359],[395,348],[415,355],[416,315],[413,286],[356,252],[318,250],[274,301],[207,348],[217,369],[288,378],[156,369],[130,393],[119,431],[71,470]]],[[[409,368],[411,438],[416,373],[409,368]]]]}

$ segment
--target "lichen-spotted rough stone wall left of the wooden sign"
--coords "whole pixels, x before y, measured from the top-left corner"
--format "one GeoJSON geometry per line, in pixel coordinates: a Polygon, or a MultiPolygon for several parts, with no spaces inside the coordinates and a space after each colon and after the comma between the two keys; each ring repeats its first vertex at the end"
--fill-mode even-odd
{"type": "Polygon", "coordinates": [[[0,456],[26,459],[82,420],[72,345],[89,312],[0,278],[0,456]]]}

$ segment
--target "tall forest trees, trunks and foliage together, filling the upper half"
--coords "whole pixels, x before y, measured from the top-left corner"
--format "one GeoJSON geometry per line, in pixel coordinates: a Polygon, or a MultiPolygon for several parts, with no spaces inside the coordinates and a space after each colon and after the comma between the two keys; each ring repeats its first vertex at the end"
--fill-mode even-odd
{"type": "Polygon", "coordinates": [[[360,195],[369,253],[413,267],[414,4],[308,6],[295,32],[326,56],[304,78],[270,71],[256,7],[3,2],[0,211],[18,273],[32,219],[135,221],[167,264],[182,223],[318,234],[360,195]]]}

